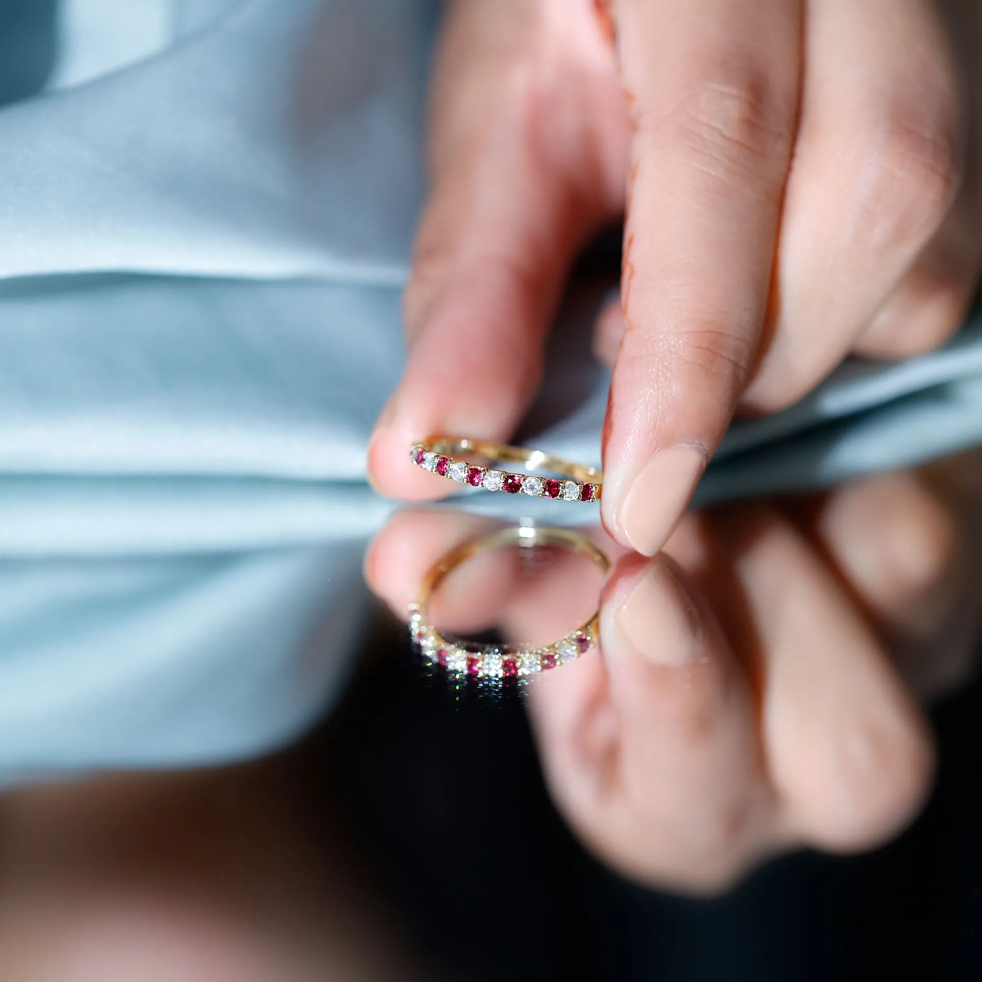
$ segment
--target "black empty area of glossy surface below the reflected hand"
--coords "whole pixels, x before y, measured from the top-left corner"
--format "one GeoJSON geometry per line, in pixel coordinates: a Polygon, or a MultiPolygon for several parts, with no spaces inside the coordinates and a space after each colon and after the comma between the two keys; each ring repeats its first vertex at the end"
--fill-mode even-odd
{"type": "Polygon", "coordinates": [[[629,884],[577,845],[515,688],[457,693],[381,620],[315,742],[332,810],[447,978],[982,979],[978,680],[933,714],[936,788],[899,840],[785,856],[690,900],[629,884]]]}

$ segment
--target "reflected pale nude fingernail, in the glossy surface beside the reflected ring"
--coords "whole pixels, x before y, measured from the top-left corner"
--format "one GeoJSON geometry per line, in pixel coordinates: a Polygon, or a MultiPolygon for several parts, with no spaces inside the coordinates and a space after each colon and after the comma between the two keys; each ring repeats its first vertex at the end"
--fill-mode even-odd
{"type": "Polygon", "coordinates": [[[656,665],[680,666],[698,650],[702,628],[695,604],[664,563],[648,569],[614,615],[613,644],[605,651],[632,652],[656,665]]]}

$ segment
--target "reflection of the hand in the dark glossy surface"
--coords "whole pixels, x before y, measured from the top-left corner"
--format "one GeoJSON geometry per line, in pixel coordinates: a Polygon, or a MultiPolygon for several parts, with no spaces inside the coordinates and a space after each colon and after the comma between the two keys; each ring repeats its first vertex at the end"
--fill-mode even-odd
{"type": "MultiPolygon", "coordinates": [[[[932,772],[914,696],[955,686],[975,650],[980,492],[976,455],[690,515],[657,558],[622,552],[602,653],[529,686],[547,782],[584,843],[633,879],[706,893],[783,849],[894,835],[932,772]]],[[[405,614],[425,570],[485,524],[402,513],[369,551],[368,581],[405,614]]],[[[497,612],[508,635],[546,638],[582,617],[563,603],[574,571],[592,575],[583,561],[529,583],[501,574],[508,554],[481,559],[444,597],[441,627],[497,612]]]]}

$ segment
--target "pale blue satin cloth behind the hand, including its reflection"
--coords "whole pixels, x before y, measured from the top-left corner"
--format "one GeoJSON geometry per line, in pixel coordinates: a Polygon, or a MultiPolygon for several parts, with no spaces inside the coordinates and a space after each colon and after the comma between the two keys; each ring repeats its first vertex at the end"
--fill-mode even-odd
{"type": "MultiPolygon", "coordinates": [[[[365,447],[404,359],[438,13],[0,13],[0,782],[247,757],[342,687],[364,544],[395,507],[365,484],[365,447]]],[[[584,309],[559,326],[525,435],[596,462],[608,378],[584,309]]],[[[699,500],[980,441],[969,325],[736,426],[699,500]]],[[[597,520],[479,491],[454,507],[597,520]]]]}

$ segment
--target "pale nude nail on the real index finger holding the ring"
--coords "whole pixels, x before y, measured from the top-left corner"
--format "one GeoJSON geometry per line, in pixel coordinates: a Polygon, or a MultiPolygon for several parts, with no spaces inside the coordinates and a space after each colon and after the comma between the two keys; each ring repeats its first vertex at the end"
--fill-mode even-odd
{"type": "Polygon", "coordinates": [[[706,459],[696,447],[680,444],[658,451],[627,488],[616,515],[627,544],[654,556],[682,518],[706,459]]]}

